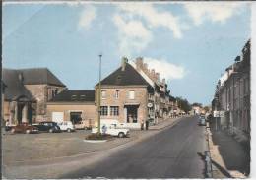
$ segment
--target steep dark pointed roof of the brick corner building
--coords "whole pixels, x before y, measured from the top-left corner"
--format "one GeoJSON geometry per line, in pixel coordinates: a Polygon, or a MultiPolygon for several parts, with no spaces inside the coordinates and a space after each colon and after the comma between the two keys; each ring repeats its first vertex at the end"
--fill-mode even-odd
{"type": "Polygon", "coordinates": [[[125,70],[122,67],[108,75],[101,81],[101,85],[115,85],[115,86],[128,86],[128,85],[145,85],[150,84],[138,73],[129,63],[126,63],[125,70]]]}

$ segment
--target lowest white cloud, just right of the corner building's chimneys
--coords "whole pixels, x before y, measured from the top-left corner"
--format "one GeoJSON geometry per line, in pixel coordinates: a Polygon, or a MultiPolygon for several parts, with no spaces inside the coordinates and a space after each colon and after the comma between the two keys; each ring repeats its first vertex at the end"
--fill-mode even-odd
{"type": "Polygon", "coordinates": [[[185,68],[182,66],[172,64],[164,59],[154,59],[150,57],[144,57],[143,59],[150,69],[155,69],[157,72],[160,72],[161,79],[182,79],[185,76],[185,68]]]}

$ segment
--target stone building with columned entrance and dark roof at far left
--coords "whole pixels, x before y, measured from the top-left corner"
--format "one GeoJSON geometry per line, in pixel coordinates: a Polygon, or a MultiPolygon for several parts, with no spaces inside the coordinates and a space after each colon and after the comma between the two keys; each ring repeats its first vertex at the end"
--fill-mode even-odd
{"type": "Polygon", "coordinates": [[[47,68],[3,69],[4,119],[12,124],[47,119],[46,102],[66,86],[47,68]]]}

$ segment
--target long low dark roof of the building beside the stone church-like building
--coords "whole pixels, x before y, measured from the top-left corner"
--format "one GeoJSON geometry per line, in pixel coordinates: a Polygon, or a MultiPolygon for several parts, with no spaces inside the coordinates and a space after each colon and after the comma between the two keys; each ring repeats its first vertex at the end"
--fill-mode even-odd
{"type": "Polygon", "coordinates": [[[95,90],[63,90],[50,102],[94,102],[95,90]]]}

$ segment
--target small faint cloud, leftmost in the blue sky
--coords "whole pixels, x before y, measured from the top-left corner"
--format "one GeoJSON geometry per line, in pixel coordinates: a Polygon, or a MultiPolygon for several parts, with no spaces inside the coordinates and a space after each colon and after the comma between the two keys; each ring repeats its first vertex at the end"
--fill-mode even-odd
{"type": "Polygon", "coordinates": [[[85,8],[80,15],[78,28],[83,30],[89,30],[95,18],[96,8],[92,5],[85,5],[85,8]]]}

